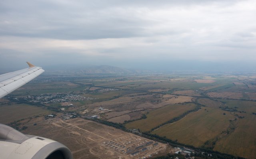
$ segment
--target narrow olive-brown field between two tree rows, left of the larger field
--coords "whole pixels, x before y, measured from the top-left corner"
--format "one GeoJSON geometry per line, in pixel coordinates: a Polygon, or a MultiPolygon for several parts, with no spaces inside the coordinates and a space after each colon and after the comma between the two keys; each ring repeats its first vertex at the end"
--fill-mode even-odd
{"type": "Polygon", "coordinates": [[[142,132],[151,130],[152,128],[177,117],[184,112],[195,108],[195,104],[176,104],[168,105],[162,108],[152,110],[147,114],[146,119],[137,120],[126,124],[126,128],[129,129],[140,129],[142,132]]]}

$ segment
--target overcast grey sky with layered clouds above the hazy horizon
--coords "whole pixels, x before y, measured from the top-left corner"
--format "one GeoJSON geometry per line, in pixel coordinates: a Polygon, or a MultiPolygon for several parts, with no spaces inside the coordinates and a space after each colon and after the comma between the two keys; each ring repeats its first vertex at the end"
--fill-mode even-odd
{"type": "Polygon", "coordinates": [[[26,61],[252,69],[256,1],[1,0],[0,71],[26,61]]]}

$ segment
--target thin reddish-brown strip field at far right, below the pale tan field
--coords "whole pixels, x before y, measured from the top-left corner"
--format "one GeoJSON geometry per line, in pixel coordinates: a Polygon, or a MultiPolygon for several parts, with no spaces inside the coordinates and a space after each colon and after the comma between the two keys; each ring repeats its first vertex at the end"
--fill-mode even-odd
{"type": "Polygon", "coordinates": [[[207,93],[211,98],[229,98],[229,99],[242,99],[243,94],[239,92],[209,92],[207,93]]]}

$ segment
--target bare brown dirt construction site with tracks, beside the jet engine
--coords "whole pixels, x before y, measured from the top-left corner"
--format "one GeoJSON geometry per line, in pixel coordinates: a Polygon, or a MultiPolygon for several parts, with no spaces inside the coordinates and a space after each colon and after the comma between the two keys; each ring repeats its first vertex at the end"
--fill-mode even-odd
{"type": "Polygon", "coordinates": [[[72,151],[74,159],[137,159],[166,148],[163,143],[153,146],[155,141],[146,145],[151,140],[81,118],[65,121],[57,118],[45,120],[36,126],[28,126],[23,133],[63,143],[72,151]],[[140,151],[140,154],[134,157],[131,157],[130,153],[126,154],[128,147],[135,149],[138,145],[146,145],[143,147],[147,147],[147,150],[140,151]],[[160,147],[162,148],[159,149],[160,147]]]}

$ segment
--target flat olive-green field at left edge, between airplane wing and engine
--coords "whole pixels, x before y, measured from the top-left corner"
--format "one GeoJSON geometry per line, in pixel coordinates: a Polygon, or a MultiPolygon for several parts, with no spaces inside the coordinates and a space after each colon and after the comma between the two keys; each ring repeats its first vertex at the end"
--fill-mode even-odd
{"type": "Polygon", "coordinates": [[[42,107],[36,107],[28,104],[15,104],[11,105],[1,105],[0,106],[0,123],[8,124],[14,122],[15,120],[20,120],[23,118],[28,118],[38,115],[51,114],[52,111],[44,109],[42,107]]]}

